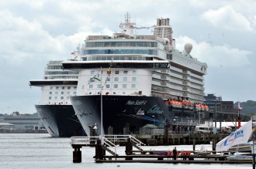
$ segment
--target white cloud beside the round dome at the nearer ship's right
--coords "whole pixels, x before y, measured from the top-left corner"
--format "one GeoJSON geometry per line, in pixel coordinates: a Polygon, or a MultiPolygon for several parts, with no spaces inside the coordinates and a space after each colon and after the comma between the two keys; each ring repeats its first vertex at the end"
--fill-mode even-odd
{"type": "Polygon", "coordinates": [[[183,50],[185,43],[191,43],[193,46],[191,55],[200,62],[207,63],[212,67],[243,67],[250,65],[248,56],[251,55],[250,51],[232,48],[230,46],[212,46],[208,42],[195,42],[187,36],[179,36],[176,39],[176,48],[183,50]]]}

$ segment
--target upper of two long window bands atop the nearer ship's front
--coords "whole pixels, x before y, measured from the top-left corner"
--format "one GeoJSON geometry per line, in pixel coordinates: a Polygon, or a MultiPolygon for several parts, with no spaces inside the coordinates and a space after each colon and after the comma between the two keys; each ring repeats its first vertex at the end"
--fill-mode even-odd
{"type": "Polygon", "coordinates": [[[85,47],[89,48],[123,46],[157,47],[157,42],[85,42],[85,47]]]}

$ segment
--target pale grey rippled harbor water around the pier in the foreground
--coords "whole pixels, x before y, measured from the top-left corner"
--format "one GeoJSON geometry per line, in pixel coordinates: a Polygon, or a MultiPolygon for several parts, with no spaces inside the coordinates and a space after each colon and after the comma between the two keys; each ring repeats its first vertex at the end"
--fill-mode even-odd
{"type": "MultiPolygon", "coordinates": [[[[211,150],[211,145],[204,145],[211,150]]],[[[175,146],[143,147],[144,150],[172,150],[175,146]]],[[[192,150],[192,145],[178,145],[178,150],[192,150]]],[[[199,150],[197,145],[195,150],[199,150]]],[[[124,154],[125,147],[118,147],[117,153],[124,154]]],[[[81,149],[82,162],[74,164],[70,138],[53,138],[49,134],[0,134],[0,168],[95,168],[95,169],[247,169],[251,164],[145,164],[145,163],[108,163],[94,161],[94,147],[81,149]]]]}

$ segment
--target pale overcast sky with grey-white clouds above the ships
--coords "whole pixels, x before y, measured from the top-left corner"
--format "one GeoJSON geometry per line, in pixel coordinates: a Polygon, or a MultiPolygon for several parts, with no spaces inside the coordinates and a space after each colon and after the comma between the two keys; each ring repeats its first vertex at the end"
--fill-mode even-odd
{"type": "MultiPolygon", "coordinates": [[[[112,35],[126,12],[137,26],[169,18],[180,51],[207,63],[205,93],[223,100],[256,100],[254,0],[1,0],[0,113],[35,113],[49,60],[70,58],[87,35],[112,35]]],[[[137,30],[137,34],[151,30],[137,30]]]]}

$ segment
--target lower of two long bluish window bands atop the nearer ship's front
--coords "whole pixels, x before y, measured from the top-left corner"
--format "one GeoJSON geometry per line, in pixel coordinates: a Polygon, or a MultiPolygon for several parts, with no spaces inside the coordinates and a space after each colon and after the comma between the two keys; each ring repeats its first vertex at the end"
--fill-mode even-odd
{"type": "Polygon", "coordinates": [[[144,54],[157,56],[156,49],[87,49],[82,50],[81,55],[100,54],[144,54]]]}

